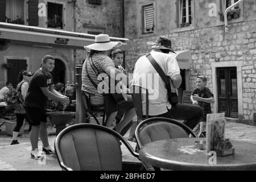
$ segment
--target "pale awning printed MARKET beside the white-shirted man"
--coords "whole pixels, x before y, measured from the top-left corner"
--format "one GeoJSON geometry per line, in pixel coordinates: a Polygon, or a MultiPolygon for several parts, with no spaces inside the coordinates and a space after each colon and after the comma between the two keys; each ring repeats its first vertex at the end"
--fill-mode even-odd
{"type": "Polygon", "coordinates": [[[172,55],[176,56],[177,63],[179,64],[180,69],[189,69],[191,64],[191,51],[175,51],[172,55]]]}

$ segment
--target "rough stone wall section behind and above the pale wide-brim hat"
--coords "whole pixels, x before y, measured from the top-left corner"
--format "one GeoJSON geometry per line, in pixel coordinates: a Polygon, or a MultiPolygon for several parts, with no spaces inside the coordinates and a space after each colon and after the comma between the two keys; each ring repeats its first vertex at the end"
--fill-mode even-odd
{"type": "MultiPolygon", "coordinates": [[[[100,32],[122,38],[122,16],[122,1],[120,0],[102,0],[101,5],[89,4],[88,0],[77,0],[76,32],[100,32]]],[[[80,65],[85,57],[85,50],[77,50],[76,64],[80,65]]]]}

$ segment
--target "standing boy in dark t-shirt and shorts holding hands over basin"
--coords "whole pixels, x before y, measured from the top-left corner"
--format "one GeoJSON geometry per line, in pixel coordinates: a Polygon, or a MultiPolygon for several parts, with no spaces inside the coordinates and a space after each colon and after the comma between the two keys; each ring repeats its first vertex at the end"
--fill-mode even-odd
{"type": "Polygon", "coordinates": [[[69,104],[69,98],[58,93],[53,86],[51,72],[54,68],[55,60],[51,55],[46,55],[42,59],[42,68],[32,76],[28,87],[27,96],[24,101],[27,117],[31,121],[30,142],[32,146],[31,158],[39,159],[42,152],[38,150],[38,135],[43,143],[43,152],[46,154],[54,154],[55,151],[48,142],[48,134],[46,127],[46,104],[47,99],[69,104]],[[40,132],[39,132],[40,131],[40,132]]]}

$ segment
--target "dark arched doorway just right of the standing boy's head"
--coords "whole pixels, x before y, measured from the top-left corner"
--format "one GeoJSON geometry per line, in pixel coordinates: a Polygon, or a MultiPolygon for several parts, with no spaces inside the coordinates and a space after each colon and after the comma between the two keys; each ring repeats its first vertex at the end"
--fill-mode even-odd
{"type": "Polygon", "coordinates": [[[55,59],[55,67],[51,72],[53,77],[53,84],[61,82],[65,84],[65,64],[60,59],[55,59]]]}

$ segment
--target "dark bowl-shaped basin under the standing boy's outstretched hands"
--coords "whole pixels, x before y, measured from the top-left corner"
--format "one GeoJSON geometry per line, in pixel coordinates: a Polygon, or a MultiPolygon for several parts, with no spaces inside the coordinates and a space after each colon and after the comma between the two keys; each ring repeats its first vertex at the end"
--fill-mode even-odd
{"type": "Polygon", "coordinates": [[[68,122],[72,121],[73,117],[76,115],[75,112],[63,112],[55,111],[48,112],[46,115],[49,118],[49,121],[53,123],[56,127],[56,134],[58,135],[60,131],[65,129],[68,122]]]}

